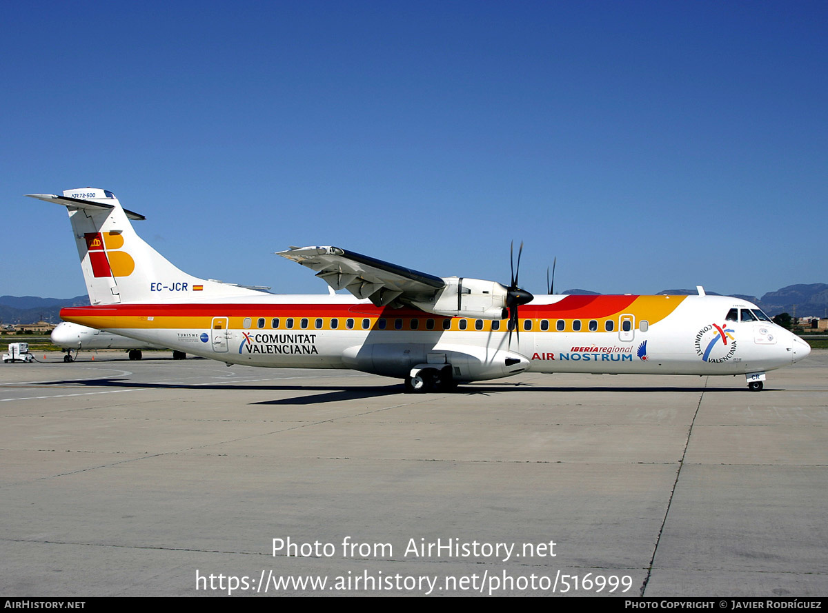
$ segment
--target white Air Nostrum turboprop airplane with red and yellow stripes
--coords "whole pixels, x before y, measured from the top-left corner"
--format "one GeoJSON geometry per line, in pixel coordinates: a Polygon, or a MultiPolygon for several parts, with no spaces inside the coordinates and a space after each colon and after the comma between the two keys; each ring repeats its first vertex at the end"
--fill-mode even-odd
{"type": "Polygon", "coordinates": [[[705,295],[539,295],[438,277],[340,247],[278,255],[315,271],[328,295],[274,295],[189,275],[144,242],[104,189],[27,194],[68,210],[91,306],[60,317],[220,362],[348,368],[397,377],[407,392],[522,372],[744,376],[811,347],[755,304],[705,295]],[[335,294],[348,290],[351,295],[335,294]]]}

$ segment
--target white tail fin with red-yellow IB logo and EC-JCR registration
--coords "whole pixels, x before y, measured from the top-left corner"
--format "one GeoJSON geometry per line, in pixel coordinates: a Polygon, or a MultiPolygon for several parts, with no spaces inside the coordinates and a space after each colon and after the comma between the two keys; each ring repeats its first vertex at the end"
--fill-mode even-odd
{"type": "Polygon", "coordinates": [[[91,304],[146,303],[260,295],[237,285],[199,279],[171,264],[132,229],[143,215],[123,208],[105,189],[66,189],[62,196],[27,194],[62,204],[72,232],[91,304]]]}

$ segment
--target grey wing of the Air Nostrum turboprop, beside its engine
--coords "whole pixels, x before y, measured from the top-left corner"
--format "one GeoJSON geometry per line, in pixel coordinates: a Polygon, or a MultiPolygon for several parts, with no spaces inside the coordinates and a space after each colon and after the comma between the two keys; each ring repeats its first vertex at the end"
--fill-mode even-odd
{"type": "Polygon", "coordinates": [[[291,247],[277,255],[316,271],[335,290],[348,290],[377,306],[431,302],[445,280],[340,247],[291,247]]]}

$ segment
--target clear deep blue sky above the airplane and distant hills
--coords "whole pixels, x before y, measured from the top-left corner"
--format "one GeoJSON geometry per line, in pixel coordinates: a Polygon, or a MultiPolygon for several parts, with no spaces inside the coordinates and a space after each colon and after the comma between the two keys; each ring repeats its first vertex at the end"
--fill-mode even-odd
{"type": "Polygon", "coordinates": [[[194,275],[272,255],[652,293],[826,282],[826,2],[26,2],[0,50],[0,295],[84,294],[94,186],[194,275]],[[25,256],[18,258],[11,254],[25,256]]]}

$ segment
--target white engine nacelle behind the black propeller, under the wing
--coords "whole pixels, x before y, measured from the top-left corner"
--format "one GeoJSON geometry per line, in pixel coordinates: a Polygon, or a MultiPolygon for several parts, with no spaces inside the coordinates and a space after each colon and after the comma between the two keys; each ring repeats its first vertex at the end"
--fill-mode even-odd
{"type": "Polygon", "coordinates": [[[497,281],[444,277],[445,287],[429,302],[412,304],[426,313],[478,319],[508,318],[508,290],[497,281]]]}

